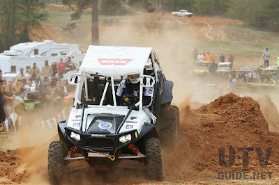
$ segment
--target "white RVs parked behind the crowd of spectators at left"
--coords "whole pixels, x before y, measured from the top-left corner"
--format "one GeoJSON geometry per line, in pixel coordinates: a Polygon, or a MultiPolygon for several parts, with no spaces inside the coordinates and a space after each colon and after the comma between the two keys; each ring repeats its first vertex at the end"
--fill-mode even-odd
{"type": "Polygon", "coordinates": [[[0,54],[0,69],[3,73],[15,73],[24,68],[24,72],[29,72],[33,63],[37,63],[40,69],[49,63],[59,63],[60,58],[63,61],[74,63],[77,69],[83,61],[84,54],[80,51],[78,45],[57,44],[53,40],[44,42],[24,42],[10,47],[10,50],[0,54]]]}

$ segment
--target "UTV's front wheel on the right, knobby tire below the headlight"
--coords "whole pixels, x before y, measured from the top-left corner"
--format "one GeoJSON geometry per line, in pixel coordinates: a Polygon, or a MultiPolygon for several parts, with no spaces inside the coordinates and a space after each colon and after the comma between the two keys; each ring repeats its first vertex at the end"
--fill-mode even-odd
{"type": "Polygon", "coordinates": [[[158,138],[146,138],[146,173],[152,180],[162,181],[164,179],[163,164],[158,138]]]}

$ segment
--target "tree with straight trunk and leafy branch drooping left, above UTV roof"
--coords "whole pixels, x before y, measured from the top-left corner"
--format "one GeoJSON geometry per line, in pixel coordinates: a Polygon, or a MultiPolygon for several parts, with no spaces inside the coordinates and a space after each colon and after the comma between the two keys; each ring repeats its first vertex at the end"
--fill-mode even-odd
{"type": "Polygon", "coordinates": [[[71,31],[72,29],[75,29],[77,27],[75,21],[81,19],[82,15],[84,14],[84,10],[88,8],[91,9],[91,44],[100,45],[98,0],[63,0],[62,3],[73,11],[72,15],[70,15],[70,22],[64,29],[65,31],[71,31]]]}

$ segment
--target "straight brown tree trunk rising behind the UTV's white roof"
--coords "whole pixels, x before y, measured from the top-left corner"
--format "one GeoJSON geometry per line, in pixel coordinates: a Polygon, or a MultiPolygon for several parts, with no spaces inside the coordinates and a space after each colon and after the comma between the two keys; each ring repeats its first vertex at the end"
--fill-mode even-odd
{"type": "Polygon", "coordinates": [[[98,0],[92,1],[92,30],[91,45],[100,45],[99,20],[98,20],[98,0]]]}

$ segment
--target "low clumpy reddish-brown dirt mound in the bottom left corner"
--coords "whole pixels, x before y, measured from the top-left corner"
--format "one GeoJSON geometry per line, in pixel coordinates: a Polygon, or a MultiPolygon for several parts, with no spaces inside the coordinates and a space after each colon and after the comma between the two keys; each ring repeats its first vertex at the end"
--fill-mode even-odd
{"type": "Polygon", "coordinates": [[[20,170],[22,157],[19,150],[0,151],[0,184],[20,184],[29,178],[28,170],[20,170]]]}

